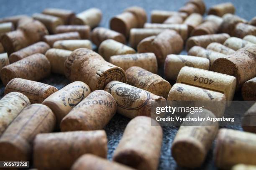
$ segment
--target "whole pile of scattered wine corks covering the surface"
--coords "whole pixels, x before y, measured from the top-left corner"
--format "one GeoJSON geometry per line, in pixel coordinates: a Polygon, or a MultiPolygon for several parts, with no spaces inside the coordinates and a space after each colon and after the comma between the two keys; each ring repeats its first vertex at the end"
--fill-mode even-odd
{"type": "MultiPolygon", "coordinates": [[[[237,16],[232,3],[206,11],[203,0],[152,10],[151,23],[147,12],[125,8],[110,28],[100,26],[98,8],[0,19],[0,161],[30,161],[39,170],[156,170],[164,133],[151,118],[154,102],[220,101],[203,112],[221,117],[235,95],[256,101],[255,18],[237,16]],[[43,83],[51,74],[69,84],[43,83]],[[131,120],[109,161],[104,128],[115,114],[131,120]]],[[[256,116],[255,104],[246,116],[256,116]]],[[[200,168],[215,139],[217,167],[256,165],[256,128],[219,128],[182,124],[170,146],[177,165],[200,168]]]]}

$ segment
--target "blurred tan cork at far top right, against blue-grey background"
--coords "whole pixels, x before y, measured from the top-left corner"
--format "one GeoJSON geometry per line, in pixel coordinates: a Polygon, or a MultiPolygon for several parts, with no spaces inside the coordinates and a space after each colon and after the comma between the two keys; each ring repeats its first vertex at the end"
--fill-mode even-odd
{"type": "Polygon", "coordinates": [[[235,11],[236,9],[232,3],[220,3],[218,5],[212,6],[208,11],[208,15],[217,15],[222,17],[227,13],[234,14],[235,11]]]}

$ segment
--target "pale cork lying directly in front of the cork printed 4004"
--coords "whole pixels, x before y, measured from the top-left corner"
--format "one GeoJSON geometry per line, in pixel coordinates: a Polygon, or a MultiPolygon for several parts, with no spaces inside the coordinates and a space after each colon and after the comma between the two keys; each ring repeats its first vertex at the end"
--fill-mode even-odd
{"type": "Polygon", "coordinates": [[[203,103],[204,109],[210,110],[216,117],[224,114],[225,100],[222,93],[180,83],[172,86],[167,98],[167,101],[211,101],[203,103]]]}

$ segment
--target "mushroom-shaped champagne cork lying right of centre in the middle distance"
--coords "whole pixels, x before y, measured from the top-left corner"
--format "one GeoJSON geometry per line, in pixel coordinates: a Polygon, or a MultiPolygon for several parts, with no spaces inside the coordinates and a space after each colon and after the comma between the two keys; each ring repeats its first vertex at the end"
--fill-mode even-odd
{"type": "Polygon", "coordinates": [[[157,36],[143,39],[138,44],[138,53],[152,52],[159,66],[164,64],[168,54],[178,54],[183,49],[182,37],[174,30],[164,30],[157,36]]]}

